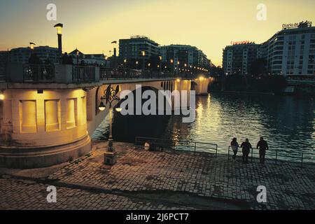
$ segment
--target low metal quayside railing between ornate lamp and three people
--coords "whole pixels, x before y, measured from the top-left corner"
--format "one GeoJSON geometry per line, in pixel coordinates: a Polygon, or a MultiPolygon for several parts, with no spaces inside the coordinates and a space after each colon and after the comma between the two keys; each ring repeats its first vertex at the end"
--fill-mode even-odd
{"type": "Polygon", "coordinates": [[[167,148],[173,151],[190,151],[200,153],[212,153],[218,156],[218,145],[199,141],[172,141],[169,139],[157,139],[148,137],[136,137],[135,144],[137,146],[144,146],[144,144],[150,144],[150,147],[156,148],[167,148]],[[193,151],[183,149],[183,148],[193,148],[193,151]]]}

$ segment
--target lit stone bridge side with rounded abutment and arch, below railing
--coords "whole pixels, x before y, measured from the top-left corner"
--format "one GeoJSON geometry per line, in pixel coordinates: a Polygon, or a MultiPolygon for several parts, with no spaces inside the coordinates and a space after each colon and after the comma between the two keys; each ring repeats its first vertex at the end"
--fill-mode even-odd
{"type": "Polygon", "coordinates": [[[89,153],[93,132],[109,115],[109,105],[105,111],[98,106],[110,83],[114,89],[119,85],[120,92],[134,91],[136,85],[171,92],[187,90],[188,100],[191,87],[191,80],[175,78],[8,85],[3,90],[5,99],[0,101],[0,167],[50,167],[89,153]]]}

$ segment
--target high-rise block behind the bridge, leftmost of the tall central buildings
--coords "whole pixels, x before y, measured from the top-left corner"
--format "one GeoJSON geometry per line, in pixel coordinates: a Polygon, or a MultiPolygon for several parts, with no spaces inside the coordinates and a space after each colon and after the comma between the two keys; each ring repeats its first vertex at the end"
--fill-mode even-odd
{"type": "Polygon", "coordinates": [[[119,40],[120,59],[148,59],[159,55],[159,44],[146,36],[132,36],[119,40]]]}

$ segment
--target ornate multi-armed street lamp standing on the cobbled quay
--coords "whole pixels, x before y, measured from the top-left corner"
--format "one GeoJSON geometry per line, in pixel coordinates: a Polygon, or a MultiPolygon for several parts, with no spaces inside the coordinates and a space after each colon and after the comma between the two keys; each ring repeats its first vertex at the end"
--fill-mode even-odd
{"type": "MultiPolygon", "coordinates": [[[[104,91],[104,96],[101,97],[102,102],[101,104],[99,104],[99,111],[104,111],[106,109],[106,105],[109,104],[109,152],[113,152],[113,132],[112,132],[112,120],[113,120],[113,110],[112,110],[112,104],[115,101],[120,100],[120,98],[118,97],[118,92],[119,92],[119,85],[117,85],[116,90],[113,89],[113,87],[111,87],[111,85],[109,85],[109,87],[107,87],[107,89],[104,91]],[[105,104],[104,102],[105,101],[105,104]]],[[[116,111],[120,112],[122,111],[122,109],[120,108],[120,106],[118,106],[118,108],[116,108],[116,111]]]]}

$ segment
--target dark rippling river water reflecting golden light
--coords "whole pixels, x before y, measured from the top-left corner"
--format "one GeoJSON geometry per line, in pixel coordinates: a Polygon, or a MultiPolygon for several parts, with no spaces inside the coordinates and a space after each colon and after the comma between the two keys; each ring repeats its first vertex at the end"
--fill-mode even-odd
{"type": "MultiPolygon", "coordinates": [[[[287,155],[300,158],[304,152],[308,153],[304,157],[315,159],[314,101],[311,97],[257,94],[198,96],[194,123],[182,123],[181,116],[121,116],[115,112],[113,139],[132,143],[135,137],[201,141],[217,144],[218,153],[227,154],[233,137],[239,144],[248,138],[254,148],[259,137],[264,137],[270,155],[279,151],[282,159],[287,155]]],[[[93,139],[104,140],[108,136],[106,118],[93,139]]]]}

